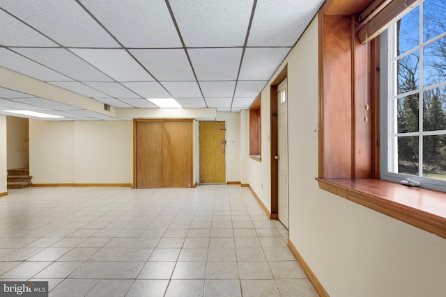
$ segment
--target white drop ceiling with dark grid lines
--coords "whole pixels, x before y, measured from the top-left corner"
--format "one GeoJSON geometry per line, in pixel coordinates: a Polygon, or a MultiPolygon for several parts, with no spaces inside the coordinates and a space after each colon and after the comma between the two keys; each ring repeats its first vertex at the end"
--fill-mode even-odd
{"type": "Polygon", "coordinates": [[[146,98],[169,97],[185,109],[248,109],[322,3],[0,0],[0,67],[26,75],[14,87],[0,77],[0,114],[130,120],[66,90],[114,109],[157,109],[146,98]],[[33,93],[29,78],[64,90],[33,93]]]}

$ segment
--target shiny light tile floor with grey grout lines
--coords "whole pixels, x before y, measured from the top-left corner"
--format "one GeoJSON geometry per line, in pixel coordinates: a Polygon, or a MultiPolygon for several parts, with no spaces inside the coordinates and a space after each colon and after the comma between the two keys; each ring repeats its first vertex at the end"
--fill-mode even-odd
{"type": "Polygon", "coordinates": [[[0,279],[49,296],[318,296],[249,188],[56,187],[0,198],[0,279]]]}

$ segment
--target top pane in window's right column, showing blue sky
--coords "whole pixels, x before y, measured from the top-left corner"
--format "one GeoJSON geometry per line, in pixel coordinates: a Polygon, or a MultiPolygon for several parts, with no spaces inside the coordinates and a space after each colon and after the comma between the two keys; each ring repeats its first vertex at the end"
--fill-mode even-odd
{"type": "Polygon", "coordinates": [[[424,42],[446,32],[446,1],[426,0],[423,4],[424,42]]]}

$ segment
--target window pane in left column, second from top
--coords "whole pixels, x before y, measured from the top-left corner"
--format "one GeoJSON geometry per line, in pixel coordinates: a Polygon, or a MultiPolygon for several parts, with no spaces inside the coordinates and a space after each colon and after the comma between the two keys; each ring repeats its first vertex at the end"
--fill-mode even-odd
{"type": "Polygon", "coordinates": [[[420,86],[420,51],[415,51],[397,62],[398,94],[417,90],[420,86]]]}

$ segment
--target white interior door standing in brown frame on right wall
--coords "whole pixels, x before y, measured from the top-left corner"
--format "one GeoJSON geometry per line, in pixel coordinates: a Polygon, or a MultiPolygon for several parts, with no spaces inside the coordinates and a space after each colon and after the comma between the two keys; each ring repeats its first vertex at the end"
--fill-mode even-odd
{"type": "Polygon", "coordinates": [[[288,194],[288,97],[287,79],[277,86],[277,152],[278,160],[278,203],[279,220],[285,227],[289,225],[288,194]]]}

